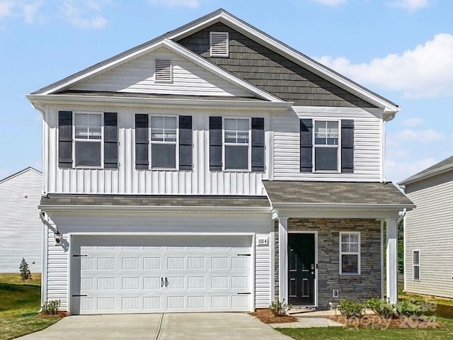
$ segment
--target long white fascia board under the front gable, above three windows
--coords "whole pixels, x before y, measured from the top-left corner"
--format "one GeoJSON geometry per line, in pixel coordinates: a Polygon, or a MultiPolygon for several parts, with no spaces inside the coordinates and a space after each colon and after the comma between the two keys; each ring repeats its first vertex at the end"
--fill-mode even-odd
{"type": "MultiPolygon", "coordinates": [[[[127,92],[124,92],[127,94],[127,92]]],[[[115,97],[115,96],[84,96],[72,94],[28,94],[28,101],[32,104],[93,104],[103,103],[105,106],[161,106],[171,108],[223,108],[226,110],[238,110],[239,108],[251,109],[259,108],[262,111],[287,111],[292,106],[292,102],[288,101],[229,101],[211,100],[211,99],[192,99],[192,98],[146,98],[146,97],[115,97]]]]}

